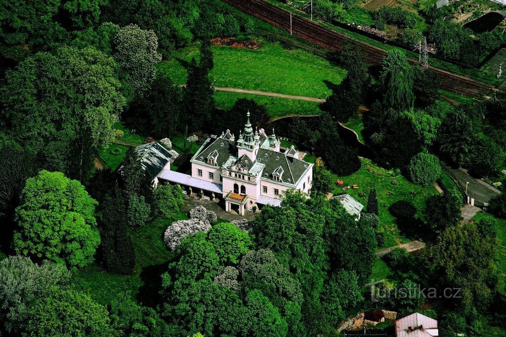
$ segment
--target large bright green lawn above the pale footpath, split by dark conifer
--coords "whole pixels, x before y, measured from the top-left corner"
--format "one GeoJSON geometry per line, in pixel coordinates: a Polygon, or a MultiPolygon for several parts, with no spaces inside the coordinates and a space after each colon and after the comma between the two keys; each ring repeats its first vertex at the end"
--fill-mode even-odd
{"type": "MultiPolygon", "coordinates": [[[[214,85],[324,98],[331,91],[325,80],[341,83],[346,71],[303,50],[284,50],[278,43],[262,41],[258,50],[213,46],[215,67],[210,72],[214,85]]],[[[186,66],[198,58],[198,45],[179,49],[173,59],[161,62],[175,83],[186,82],[186,66]]]]}

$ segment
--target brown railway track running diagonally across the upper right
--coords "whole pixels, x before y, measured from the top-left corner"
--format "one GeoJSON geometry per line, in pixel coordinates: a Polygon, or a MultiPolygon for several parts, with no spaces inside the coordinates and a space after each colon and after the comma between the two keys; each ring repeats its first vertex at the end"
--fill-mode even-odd
{"type": "MultiPolygon", "coordinates": [[[[274,6],[264,0],[224,0],[235,8],[261,19],[277,28],[290,31],[290,12],[274,6]]],[[[381,64],[387,51],[356,40],[348,35],[320,26],[314,21],[304,17],[292,16],[292,34],[330,51],[341,51],[346,43],[355,44],[364,54],[364,61],[371,65],[381,64]]],[[[419,63],[408,59],[410,64],[419,63]]],[[[449,73],[447,71],[430,67],[441,78],[441,87],[450,92],[459,93],[469,97],[483,97],[494,89],[493,86],[481,83],[468,77],[449,73]]]]}

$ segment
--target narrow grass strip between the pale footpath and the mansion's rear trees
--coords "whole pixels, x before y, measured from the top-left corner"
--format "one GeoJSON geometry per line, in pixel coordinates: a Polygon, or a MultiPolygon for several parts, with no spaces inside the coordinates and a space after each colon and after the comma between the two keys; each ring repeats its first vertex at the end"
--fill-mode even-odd
{"type": "Polygon", "coordinates": [[[279,97],[268,97],[262,95],[252,95],[246,93],[234,93],[225,91],[215,91],[216,107],[220,109],[230,109],[235,101],[241,98],[255,100],[258,104],[266,106],[269,115],[272,118],[286,115],[319,115],[321,110],[316,102],[285,99],[279,97]]]}

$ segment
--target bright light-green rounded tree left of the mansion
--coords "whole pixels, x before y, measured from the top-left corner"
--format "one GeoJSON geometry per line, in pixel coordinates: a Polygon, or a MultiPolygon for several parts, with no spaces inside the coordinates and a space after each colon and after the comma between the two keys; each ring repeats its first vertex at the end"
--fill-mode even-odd
{"type": "Polygon", "coordinates": [[[96,205],[78,181],[40,171],[26,181],[16,209],[16,252],[68,266],[92,263],[100,243],[96,205]]]}

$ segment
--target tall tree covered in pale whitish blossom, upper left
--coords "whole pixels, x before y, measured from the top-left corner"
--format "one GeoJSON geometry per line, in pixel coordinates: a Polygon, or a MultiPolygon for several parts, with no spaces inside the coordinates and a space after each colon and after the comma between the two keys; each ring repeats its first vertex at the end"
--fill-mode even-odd
{"type": "Polygon", "coordinates": [[[114,59],[128,74],[136,96],[142,97],[155,78],[156,64],[161,61],[156,34],[131,24],[117,32],[114,45],[114,59]]]}

